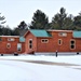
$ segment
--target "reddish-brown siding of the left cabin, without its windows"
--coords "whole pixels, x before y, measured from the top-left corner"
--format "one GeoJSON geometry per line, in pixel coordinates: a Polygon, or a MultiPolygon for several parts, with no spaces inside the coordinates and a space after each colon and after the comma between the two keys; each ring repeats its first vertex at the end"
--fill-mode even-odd
{"type": "Polygon", "coordinates": [[[9,37],[2,37],[2,41],[0,41],[0,54],[13,54],[14,52],[24,53],[25,52],[25,43],[19,42],[19,38],[14,37],[14,41],[8,41],[9,37]],[[6,44],[10,43],[11,48],[6,48],[6,44]],[[22,43],[22,51],[17,51],[17,43],[22,43]]]}

